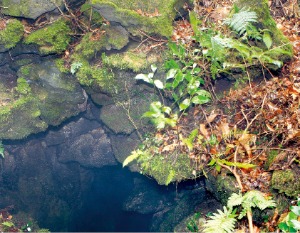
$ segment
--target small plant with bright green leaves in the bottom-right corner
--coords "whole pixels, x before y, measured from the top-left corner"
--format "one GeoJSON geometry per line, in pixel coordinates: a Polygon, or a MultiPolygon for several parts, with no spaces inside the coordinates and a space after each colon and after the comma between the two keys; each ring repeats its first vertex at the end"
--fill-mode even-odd
{"type": "Polygon", "coordinates": [[[290,212],[284,221],[279,223],[278,227],[283,232],[298,232],[300,230],[300,198],[297,200],[297,206],[291,206],[290,212]]]}

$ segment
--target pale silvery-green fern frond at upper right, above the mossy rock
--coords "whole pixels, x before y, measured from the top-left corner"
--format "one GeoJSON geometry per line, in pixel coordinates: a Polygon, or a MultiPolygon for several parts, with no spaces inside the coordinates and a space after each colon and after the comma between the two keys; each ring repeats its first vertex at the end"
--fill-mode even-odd
{"type": "Polygon", "coordinates": [[[229,25],[239,35],[246,32],[247,26],[250,23],[257,22],[257,14],[254,11],[249,11],[242,8],[238,13],[235,13],[231,18],[224,21],[225,24],[229,25]]]}

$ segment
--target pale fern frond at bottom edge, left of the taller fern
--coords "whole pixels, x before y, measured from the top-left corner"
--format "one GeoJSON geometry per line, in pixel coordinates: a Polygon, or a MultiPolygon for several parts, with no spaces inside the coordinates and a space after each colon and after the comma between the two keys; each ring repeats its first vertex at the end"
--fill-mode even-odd
{"type": "Polygon", "coordinates": [[[235,214],[228,210],[225,206],[224,211],[218,210],[209,220],[203,225],[205,233],[230,233],[234,231],[236,222],[235,214]]]}

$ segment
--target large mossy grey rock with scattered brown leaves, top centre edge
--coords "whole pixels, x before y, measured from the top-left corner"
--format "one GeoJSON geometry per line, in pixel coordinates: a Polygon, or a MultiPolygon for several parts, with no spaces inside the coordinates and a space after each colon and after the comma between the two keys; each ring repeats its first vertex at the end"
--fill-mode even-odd
{"type": "Polygon", "coordinates": [[[132,34],[138,30],[171,36],[172,22],[183,6],[181,0],[91,0],[92,6],[108,21],[121,24],[132,34]]]}

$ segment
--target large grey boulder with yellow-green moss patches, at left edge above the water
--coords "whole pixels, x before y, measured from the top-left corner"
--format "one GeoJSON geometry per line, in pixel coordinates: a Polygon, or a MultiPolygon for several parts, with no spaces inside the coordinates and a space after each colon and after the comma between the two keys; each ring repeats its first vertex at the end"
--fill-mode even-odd
{"type": "Polygon", "coordinates": [[[54,62],[23,66],[0,79],[0,139],[21,139],[59,125],[84,110],[85,96],[74,78],[54,62]]]}

